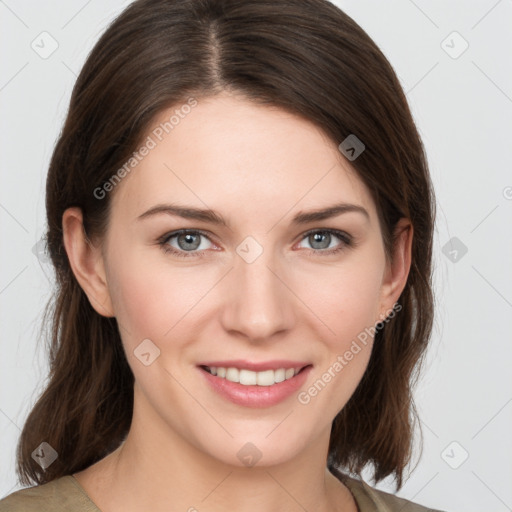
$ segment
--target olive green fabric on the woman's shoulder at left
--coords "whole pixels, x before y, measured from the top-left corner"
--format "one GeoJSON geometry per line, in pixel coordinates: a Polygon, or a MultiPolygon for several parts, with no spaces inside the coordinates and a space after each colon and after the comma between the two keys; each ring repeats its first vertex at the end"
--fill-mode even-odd
{"type": "Polygon", "coordinates": [[[0,512],[99,512],[78,482],[66,475],[0,500],[0,512]]]}

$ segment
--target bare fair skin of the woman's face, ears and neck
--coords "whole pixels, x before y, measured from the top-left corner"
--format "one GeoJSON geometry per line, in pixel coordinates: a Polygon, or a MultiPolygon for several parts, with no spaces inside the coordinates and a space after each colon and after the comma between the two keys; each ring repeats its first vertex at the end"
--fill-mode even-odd
{"type": "MultiPolygon", "coordinates": [[[[326,457],[332,420],[364,374],[371,339],[307,405],[297,394],[267,408],[235,405],[196,365],[307,361],[307,390],[398,300],[410,222],[400,222],[387,262],[375,204],[337,144],[309,121],[228,93],[199,100],[111,194],[102,243],[84,238],[78,208],[63,215],[73,272],[95,310],[117,318],[135,376],[126,441],[74,475],[91,499],[103,512],[356,511],[326,457]],[[291,224],[299,211],[341,201],[363,206],[369,219],[348,212],[291,224]],[[167,214],[137,220],[170,202],[214,209],[230,228],[167,214]],[[182,228],[208,235],[187,258],[158,244],[182,228]],[[304,235],[327,228],[357,245],[326,255],[343,240],[333,235],[322,246],[304,235]],[[236,252],[247,236],[263,249],[250,264],[236,252]],[[134,355],[144,339],[160,350],[148,366],[134,355]],[[253,467],[237,457],[247,442],[262,454],[253,467]]],[[[168,245],[190,254],[178,242],[168,245]]]]}

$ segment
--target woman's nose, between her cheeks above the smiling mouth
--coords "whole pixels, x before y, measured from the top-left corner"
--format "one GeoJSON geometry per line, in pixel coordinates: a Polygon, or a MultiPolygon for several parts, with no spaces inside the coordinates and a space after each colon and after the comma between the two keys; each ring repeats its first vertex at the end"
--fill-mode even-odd
{"type": "Polygon", "coordinates": [[[225,281],[221,314],[224,329],[249,341],[262,342],[292,329],[294,296],[286,272],[263,251],[254,261],[236,257],[225,281]]]}

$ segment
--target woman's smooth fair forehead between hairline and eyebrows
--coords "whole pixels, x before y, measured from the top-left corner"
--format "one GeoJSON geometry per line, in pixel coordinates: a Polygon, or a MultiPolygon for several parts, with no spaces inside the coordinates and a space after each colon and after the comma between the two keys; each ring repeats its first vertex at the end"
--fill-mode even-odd
{"type": "Polygon", "coordinates": [[[113,210],[124,218],[171,200],[229,218],[232,211],[284,214],[343,201],[376,215],[338,145],[282,109],[221,94],[160,112],[144,140],[151,149],[113,197],[113,210]]]}

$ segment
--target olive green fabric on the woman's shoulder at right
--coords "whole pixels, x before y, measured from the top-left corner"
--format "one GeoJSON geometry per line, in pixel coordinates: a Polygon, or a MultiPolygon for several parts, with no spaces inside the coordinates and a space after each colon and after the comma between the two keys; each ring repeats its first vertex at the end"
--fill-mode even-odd
{"type": "Polygon", "coordinates": [[[375,489],[364,480],[352,478],[342,473],[336,476],[349,488],[360,512],[445,512],[375,489]]]}

